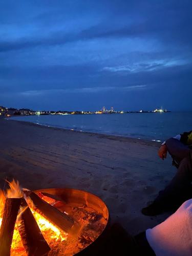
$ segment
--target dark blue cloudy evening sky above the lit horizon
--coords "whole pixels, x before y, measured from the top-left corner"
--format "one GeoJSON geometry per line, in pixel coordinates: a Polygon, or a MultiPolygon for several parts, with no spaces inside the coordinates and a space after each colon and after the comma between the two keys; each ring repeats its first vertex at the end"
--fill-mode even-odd
{"type": "Polygon", "coordinates": [[[0,1],[0,105],[192,110],[192,1],[0,1]]]}

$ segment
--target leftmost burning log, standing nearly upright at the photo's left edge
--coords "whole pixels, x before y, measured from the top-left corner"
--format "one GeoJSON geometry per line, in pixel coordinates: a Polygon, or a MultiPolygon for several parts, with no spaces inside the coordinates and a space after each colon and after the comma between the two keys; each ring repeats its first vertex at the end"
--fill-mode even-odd
{"type": "Polygon", "coordinates": [[[7,198],[0,230],[0,255],[9,256],[20,198],[7,198]]]}

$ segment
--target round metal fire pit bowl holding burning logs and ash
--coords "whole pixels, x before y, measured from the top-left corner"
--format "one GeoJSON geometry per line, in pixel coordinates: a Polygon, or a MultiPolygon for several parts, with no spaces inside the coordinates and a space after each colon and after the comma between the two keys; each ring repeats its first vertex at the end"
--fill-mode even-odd
{"type": "MultiPolygon", "coordinates": [[[[94,254],[109,221],[108,208],[100,198],[70,188],[23,191],[23,197],[2,200],[0,238],[8,236],[14,225],[11,250],[6,248],[11,254],[7,255],[94,254]]],[[[0,252],[4,245],[0,241],[0,252]]]]}

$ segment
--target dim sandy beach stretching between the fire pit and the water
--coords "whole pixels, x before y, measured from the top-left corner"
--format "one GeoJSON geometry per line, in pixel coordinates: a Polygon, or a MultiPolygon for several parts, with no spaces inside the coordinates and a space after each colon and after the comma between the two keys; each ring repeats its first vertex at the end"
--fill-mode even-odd
{"type": "MultiPolygon", "coordinates": [[[[158,142],[82,133],[0,119],[0,186],[17,179],[29,189],[87,190],[108,206],[111,223],[131,234],[168,217],[146,217],[152,201],[176,169],[158,158],[158,142]]],[[[166,139],[166,138],[165,138],[166,139]]]]}

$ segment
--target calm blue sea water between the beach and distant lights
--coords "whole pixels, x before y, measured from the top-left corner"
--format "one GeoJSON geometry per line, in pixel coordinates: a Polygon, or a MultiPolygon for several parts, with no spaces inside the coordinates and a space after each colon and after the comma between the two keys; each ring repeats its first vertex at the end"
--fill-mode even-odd
{"type": "Polygon", "coordinates": [[[18,116],[11,119],[63,129],[164,141],[192,130],[192,112],[18,116]]]}

